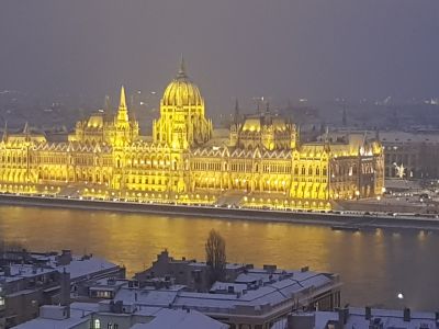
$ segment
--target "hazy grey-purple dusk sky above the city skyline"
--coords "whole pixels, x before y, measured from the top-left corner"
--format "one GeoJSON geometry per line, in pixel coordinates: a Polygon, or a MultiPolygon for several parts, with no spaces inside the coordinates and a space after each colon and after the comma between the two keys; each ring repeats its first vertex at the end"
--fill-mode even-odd
{"type": "Polygon", "coordinates": [[[0,90],[162,92],[183,53],[211,111],[238,97],[439,95],[438,0],[1,0],[0,90]]]}

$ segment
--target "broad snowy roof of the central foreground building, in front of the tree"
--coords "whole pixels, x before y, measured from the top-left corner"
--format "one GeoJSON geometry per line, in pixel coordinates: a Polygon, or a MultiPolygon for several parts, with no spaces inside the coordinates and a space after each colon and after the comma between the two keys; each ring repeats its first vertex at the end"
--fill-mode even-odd
{"type": "Polygon", "coordinates": [[[219,290],[224,285],[224,290],[227,291],[228,286],[233,286],[234,294],[218,291],[215,294],[210,294],[185,292],[183,290],[148,291],[122,287],[116,293],[114,300],[122,300],[124,305],[134,304],[142,307],[190,307],[207,314],[230,314],[236,313],[236,308],[241,306],[247,306],[255,310],[260,310],[266,306],[277,307],[290,300],[293,294],[306,293],[311,287],[319,290],[329,284],[338,284],[337,280],[327,274],[309,271],[274,271],[271,274],[270,271],[266,270],[251,271],[244,275],[248,279],[251,277],[252,281],[260,280],[262,284],[248,285],[247,280],[240,282],[241,274],[235,283],[216,283],[214,285],[219,290]]]}

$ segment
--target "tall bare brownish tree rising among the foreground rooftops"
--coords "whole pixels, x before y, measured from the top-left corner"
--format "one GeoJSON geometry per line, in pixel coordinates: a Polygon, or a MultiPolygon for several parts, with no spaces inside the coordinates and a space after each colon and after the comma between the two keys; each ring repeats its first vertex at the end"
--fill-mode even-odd
{"type": "Polygon", "coordinates": [[[226,268],[226,241],[215,229],[205,242],[206,264],[211,271],[211,284],[224,279],[226,268]]]}

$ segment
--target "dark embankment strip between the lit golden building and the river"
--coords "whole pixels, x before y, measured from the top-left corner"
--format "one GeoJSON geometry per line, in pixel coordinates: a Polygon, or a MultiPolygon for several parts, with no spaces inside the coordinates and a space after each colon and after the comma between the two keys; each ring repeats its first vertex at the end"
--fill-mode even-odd
{"type": "Polygon", "coordinates": [[[0,194],[0,204],[18,206],[42,206],[74,208],[82,211],[130,212],[146,214],[179,215],[191,217],[213,217],[245,220],[282,222],[292,224],[315,224],[356,227],[362,229],[395,228],[438,230],[439,219],[415,216],[369,215],[352,212],[291,212],[275,209],[228,208],[212,206],[190,206],[173,204],[92,201],[67,197],[43,197],[0,194]]]}

